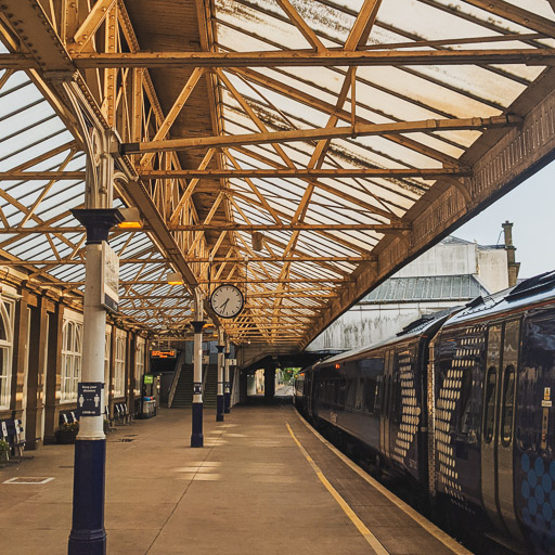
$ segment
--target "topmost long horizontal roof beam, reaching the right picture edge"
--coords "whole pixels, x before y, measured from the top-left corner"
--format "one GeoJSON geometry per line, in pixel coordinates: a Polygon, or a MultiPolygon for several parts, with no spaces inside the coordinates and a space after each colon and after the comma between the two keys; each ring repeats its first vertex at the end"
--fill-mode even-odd
{"type": "MultiPolygon", "coordinates": [[[[7,57],[7,56],[4,56],[7,57]]],[[[22,56],[29,63],[27,56],[22,56]]],[[[73,59],[78,69],[106,67],[292,67],[292,66],[384,66],[384,65],[553,65],[553,49],[344,51],[279,50],[257,52],[138,52],[124,54],[79,53],[73,59]]],[[[9,62],[10,63],[10,62],[9,62]]],[[[3,67],[3,66],[1,66],[3,67]]],[[[10,63],[10,67],[14,67],[10,63]]],[[[16,67],[16,66],[15,66],[16,67]]],[[[27,67],[29,67],[27,65],[27,67]]]]}

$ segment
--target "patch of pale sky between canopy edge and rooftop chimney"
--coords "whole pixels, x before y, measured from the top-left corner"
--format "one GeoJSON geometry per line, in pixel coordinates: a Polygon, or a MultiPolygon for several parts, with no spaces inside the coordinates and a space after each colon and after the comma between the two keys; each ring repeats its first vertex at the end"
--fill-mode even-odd
{"type": "Polygon", "coordinates": [[[555,162],[486,208],[452,235],[481,245],[503,243],[501,224],[512,221],[518,278],[555,270],[555,162]]]}

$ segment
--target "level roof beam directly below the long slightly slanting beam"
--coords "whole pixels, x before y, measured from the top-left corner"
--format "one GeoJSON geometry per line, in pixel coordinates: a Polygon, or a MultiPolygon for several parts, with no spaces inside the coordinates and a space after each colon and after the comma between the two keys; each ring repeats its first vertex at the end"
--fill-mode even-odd
{"type": "MultiPolygon", "coordinates": [[[[436,180],[443,176],[469,176],[466,168],[338,168],[338,169],[205,169],[141,171],[141,179],[270,179],[270,178],[423,178],[436,180]]],[[[0,173],[2,179],[2,173],[0,173]]],[[[38,179],[38,178],[37,178],[38,179]]]]}

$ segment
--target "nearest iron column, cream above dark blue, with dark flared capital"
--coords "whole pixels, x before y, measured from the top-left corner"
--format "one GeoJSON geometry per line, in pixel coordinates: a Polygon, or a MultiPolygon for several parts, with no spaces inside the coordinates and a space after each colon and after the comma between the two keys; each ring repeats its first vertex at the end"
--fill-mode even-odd
{"type": "MultiPolygon", "coordinates": [[[[87,229],[87,261],[85,279],[85,314],[81,388],[100,390],[98,415],[79,418],[79,434],[75,441],[74,504],[69,555],[104,555],[104,486],[106,466],[106,437],[104,435],[104,343],[106,312],[101,305],[103,272],[103,242],[109,229],[121,221],[116,209],[74,210],[73,215],[87,229]]],[[[81,389],[83,391],[85,389],[81,389]]],[[[82,396],[82,392],[80,393],[82,396]]],[[[81,403],[82,404],[82,403],[81,403]]]]}

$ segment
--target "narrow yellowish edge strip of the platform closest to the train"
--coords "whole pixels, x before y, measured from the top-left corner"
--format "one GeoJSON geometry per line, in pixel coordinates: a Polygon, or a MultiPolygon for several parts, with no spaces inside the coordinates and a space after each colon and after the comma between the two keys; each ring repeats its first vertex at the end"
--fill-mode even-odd
{"type": "Polygon", "coordinates": [[[386,487],[382,486],[376,479],[372,478],[364,472],[358,464],[353,463],[348,456],[344,455],[335,446],[330,443],[321,434],[319,434],[293,406],[297,418],[320,440],[324,443],[330,451],[332,451],[338,459],[340,459],[347,466],[354,470],[363,480],[367,481],[379,493],[385,495],[391,503],[397,505],[403,513],[409,515],[414,521],[421,525],[428,533],[439,540],[446,547],[451,550],[455,555],[474,555],[472,551],[461,545],[456,540],[451,538],[447,532],[437,527],[434,522],[428,520],[424,515],[421,515],[416,509],[412,508],[404,501],[400,500],[397,495],[391,493],[386,487]]]}

